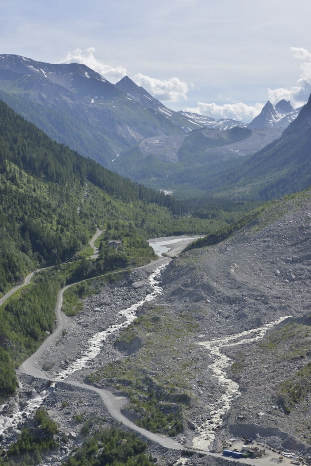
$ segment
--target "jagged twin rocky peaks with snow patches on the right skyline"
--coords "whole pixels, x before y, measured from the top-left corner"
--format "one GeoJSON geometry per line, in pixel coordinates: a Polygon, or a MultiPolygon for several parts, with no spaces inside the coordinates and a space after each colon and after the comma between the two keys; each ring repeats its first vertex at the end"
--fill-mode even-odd
{"type": "Polygon", "coordinates": [[[295,110],[289,101],[280,100],[276,106],[268,100],[257,117],[247,127],[250,129],[286,128],[297,117],[299,111],[295,110]]]}

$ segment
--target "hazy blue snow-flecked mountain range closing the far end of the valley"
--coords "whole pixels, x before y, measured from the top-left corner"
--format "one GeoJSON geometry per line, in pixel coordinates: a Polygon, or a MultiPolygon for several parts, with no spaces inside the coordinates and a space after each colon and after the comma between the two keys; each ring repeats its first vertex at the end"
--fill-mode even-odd
{"type": "Polygon", "coordinates": [[[213,192],[227,170],[279,138],[298,114],[282,100],[248,125],[217,121],[174,112],[128,76],[114,85],[85,65],[7,54],[0,55],[0,98],[57,142],[179,197],[213,192]]]}

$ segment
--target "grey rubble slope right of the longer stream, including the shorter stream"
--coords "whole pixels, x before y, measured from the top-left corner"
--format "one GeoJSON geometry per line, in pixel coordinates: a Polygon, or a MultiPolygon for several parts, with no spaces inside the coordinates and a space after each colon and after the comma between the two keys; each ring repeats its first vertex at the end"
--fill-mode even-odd
{"type": "Polygon", "coordinates": [[[170,433],[148,421],[153,390],[155,408],[182,420],[183,430],[172,427],[188,446],[217,451],[246,435],[311,451],[310,236],[307,193],[175,258],[162,295],[119,337],[139,348],[93,381],[128,395],[131,418],[170,433]]]}

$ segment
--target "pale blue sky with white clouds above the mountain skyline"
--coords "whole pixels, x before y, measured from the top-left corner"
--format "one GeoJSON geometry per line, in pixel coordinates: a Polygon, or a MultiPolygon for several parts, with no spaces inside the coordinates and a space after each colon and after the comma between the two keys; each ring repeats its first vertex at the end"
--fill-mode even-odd
{"type": "Polygon", "coordinates": [[[0,0],[1,54],[125,74],[174,110],[250,121],[311,93],[310,0],[0,0]]]}

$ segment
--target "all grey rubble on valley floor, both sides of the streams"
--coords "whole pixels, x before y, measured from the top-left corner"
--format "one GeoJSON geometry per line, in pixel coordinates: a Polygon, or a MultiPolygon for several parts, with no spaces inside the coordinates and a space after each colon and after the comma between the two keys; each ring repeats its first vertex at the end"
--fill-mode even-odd
{"type": "MultiPolygon", "coordinates": [[[[159,465],[180,461],[176,445],[217,452],[226,439],[242,436],[308,458],[310,238],[307,192],[271,205],[223,243],[181,253],[154,281],[140,269],[97,284],[36,361],[48,379],[63,374],[64,380],[51,385],[20,375],[19,393],[2,414],[13,418],[39,396],[38,405],[69,438],[56,455],[60,462],[83,441],[80,430],[89,417],[115,423],[95,392],[70,385],[86,382],[118,396],[130,421],[175,439],[173,449],[148,440],[159,465]],[[137,318],[122,327],[122,310],[138,302],[144,304],[135,310],[137,318]],[[107,333],[97,356],[68,371],[99,332],[107,333]]],[[[17,433],[3,433],[5,444],[17,433]]],[[[198,454],[183,458],[188,465],[224,462],[198,454]]]]}

